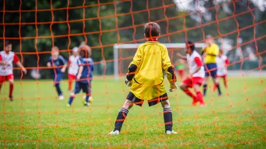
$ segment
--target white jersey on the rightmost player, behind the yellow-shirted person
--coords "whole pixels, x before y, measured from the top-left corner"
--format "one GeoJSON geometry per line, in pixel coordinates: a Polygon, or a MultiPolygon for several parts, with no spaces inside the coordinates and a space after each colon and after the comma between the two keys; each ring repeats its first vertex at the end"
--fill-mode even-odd
{"type": "Polygon", "coordinates": [[[221,57],[216,58],[216,64],[217,64],[217,75],[218,76],[224,76],[227,74],[226,65],[229,64],[229,60],[227,56],[222,55],[221,57]]]}

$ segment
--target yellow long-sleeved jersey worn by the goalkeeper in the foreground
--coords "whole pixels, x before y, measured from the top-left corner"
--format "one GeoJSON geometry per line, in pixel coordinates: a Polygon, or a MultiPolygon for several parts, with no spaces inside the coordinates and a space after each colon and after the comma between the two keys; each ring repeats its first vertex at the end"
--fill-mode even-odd
{"type": "Polygon", "coordinates": [[[165,45],[159,42],[146,42],[138,46],[133,62],[137,69],[134,73],[131,92],[142,100],[151,100],[166,93],[164,72],[170,83],[176,82],[175,68],[171,64],[165,45]]]}

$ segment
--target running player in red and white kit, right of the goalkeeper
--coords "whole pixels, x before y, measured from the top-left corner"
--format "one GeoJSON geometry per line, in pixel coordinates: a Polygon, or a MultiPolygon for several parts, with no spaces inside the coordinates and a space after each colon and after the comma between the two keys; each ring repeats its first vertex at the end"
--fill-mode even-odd
{"type": "Polygon", "coordinates": [[[182,56],[179,53],[177,53],[177,56],[179,58],[186,60],[188,62],[188,68],[189,68],[189,76],[185,80],[183,80],[183,82],[180,84],[180,88],[193,99],[192,100],[193,106],[196,106],[198,102],[199,106],[206,106],[206,104],[203,101],[203,95],[200,91],[200,86],[203,83],[205,76],[205,71],[201,60],[201,56],[195,50],[194,43],[187,42],[186,48],[187,48],[186,56],[182,56]],[[197,95],[194,95],[188,89],[192,87],[194,88],[197,95]]]}

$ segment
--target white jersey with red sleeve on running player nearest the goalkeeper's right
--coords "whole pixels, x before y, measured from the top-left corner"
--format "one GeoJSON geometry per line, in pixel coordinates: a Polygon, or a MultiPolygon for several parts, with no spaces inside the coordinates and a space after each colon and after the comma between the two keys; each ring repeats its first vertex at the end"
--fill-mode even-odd
{"type": "Polygon", "coordinates": [[[189,73],[194,73],[197,67],[200,66],[199,71],[193,74],[192,77],[204,78],[205,72],[202,64],[202,59],[197,51],[194,50],[191,55],[187,54],[187,62],[188,62],[189,73]]]}

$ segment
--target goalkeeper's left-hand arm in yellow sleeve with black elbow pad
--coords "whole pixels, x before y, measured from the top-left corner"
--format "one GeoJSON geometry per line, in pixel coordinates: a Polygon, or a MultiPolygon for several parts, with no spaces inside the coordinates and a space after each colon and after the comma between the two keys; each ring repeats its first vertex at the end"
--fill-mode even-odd
{"type": "Polygon", "coordinates": [[[126,84],[128,86],[131,86],[131,81],[135,75],[135,71],[137,70],[139,66],[140,60],[141,60],[141,52],[140,52],[140,47],[138,47],[133,57],[133,61],[129,64],[129,68],[128,68],[129,71],[126,76],[127,77],[126,84]]]}

